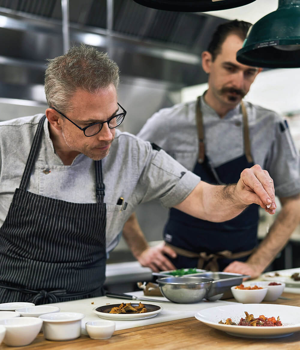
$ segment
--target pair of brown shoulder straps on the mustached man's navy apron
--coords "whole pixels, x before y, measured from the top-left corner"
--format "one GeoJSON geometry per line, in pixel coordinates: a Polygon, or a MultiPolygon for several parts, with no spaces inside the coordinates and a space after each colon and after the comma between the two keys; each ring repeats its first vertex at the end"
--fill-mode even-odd
{"type": "MultiPolygon", "coordinates": [[[[248,114],[243,101],[241,101],[241,107],[242,107],[242,114],[243,114],[244,153],[248,163],[253,163],[253,158],[251,156],[251,147],[250,147],[248,114]]],[[[205,159],[205,144],[204,144],[203,117],[201,112],[201,96],[198,96],[197,103],[196,103],[196,125],[197,125],[198,140],[199,140],[198,163],[203,163],[205,159]]]]}

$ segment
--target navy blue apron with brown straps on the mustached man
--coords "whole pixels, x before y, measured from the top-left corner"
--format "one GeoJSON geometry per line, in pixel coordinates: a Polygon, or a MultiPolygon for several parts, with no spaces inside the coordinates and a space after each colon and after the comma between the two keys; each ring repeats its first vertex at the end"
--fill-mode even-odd
{"type": "MultiPolygon", "coordinates": [[[[199,159],[193,172],[211,184],[236,183],[241,172],[253,166],[245,107],[242,104],[245,154],[216,168],[205,155],[200,108],[199,97],[196,113],[199,159]]],[[[171,261],[177,268],[198,267],[215,271],[222,271],[234,260],[246,261],[257,244],[258,218],[257,204],[251,204],[237,217],[221,223],[198,219],[172,208],[164,229],[164,240],[178,254],[171,261]]]]}

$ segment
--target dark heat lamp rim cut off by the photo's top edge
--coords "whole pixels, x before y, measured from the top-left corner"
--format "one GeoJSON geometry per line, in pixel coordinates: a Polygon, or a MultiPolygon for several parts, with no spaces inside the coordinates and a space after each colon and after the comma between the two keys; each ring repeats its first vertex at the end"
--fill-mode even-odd
{"type": "Polygon", "coordinates": [[[140,5],[158,10],[206,12],[247,5],[255,0],[134,0],[140,5]]]}

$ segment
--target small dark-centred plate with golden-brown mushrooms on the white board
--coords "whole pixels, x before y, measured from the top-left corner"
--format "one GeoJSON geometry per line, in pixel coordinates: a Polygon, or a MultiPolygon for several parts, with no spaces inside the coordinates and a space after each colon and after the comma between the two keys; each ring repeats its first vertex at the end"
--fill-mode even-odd
{"type": "Polygon", "coordinates": [[[93,308],[93,312],[108,320],[142,320],[156,316],[163,308],[158,305],[140,303],[107,304],[93,308]]]}

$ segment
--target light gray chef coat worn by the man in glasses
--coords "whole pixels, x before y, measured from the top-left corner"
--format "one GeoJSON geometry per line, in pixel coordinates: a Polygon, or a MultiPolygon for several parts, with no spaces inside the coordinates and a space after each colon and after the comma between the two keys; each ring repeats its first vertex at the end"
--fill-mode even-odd
{"type": "MultiPolygon", "coordinates": [[[[0,227],[19,187],[31,143],[43,114],[0,123],[0,227]]],[[[200,178],[149,142],[116,129],[109,155],[102,160],[107,206],[106,244],[112,250],[117,236],[138,204],[158,198],[171,208],[181,203],[200,178]],[[117,201],[124,198],[126,210],[117,201]]],[[[92,159],[79,154],[72,165],[63,165],[44,123],[41,149],[28,191],[74,203],[96,203],[95,167],[92,159]],[[45,169],[49,169],[50,173],[45,169]],[[44,171],[45,170],[45,171],[44,171]]]]}

